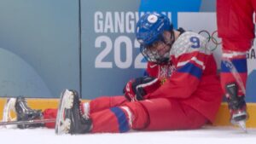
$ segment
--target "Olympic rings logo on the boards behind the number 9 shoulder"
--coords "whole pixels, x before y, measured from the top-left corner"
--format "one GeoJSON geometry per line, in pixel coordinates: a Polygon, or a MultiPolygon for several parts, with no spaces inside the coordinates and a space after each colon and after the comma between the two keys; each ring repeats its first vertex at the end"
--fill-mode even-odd
{"type": "Polygon", "coordinates": [[[218,31],[214,31],[210,34],[207,30],[201,30],[198,34],[207,38],[207,49],[210,49],[211,51],[217,49],[218,45],[221,45],[222,43],[220,38],[218,38],[218,31]]]}

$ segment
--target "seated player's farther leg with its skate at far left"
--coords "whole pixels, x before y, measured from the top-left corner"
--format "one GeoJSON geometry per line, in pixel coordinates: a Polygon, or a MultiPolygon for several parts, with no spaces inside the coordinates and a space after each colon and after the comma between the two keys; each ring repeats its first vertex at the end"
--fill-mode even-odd
{"type": "MultiPolygon", "coordinates": [[[[35,110],[31,107],[28,107],[26,104],[26,99],[24,97],[19,96],[18,98],[11,98],[9,99],[5,105],[6,112],[5,116],[3,116],[4,121],[11,120],[10,113],[11,111],[16,113],[17,120],[32,120],[32,119],[55,119],[57,116],[58,109],[57,108],[48,108],[45,109],[44,112],[41,110],[35,110]],[[7,112],[8,111],[8,112],[7,112]]],[[[90,112],[97,112],[101,111],[102,109],[107,109],[109,107],[115,107],[122,103],[124,103],[125,97],[124,96],[113,96],[113,97],[101,97],[97,98],[96,100],[92,100],[90,102],[83,103],[84,113],[90,115],[90,112]]],[[[3,114],[4,115],[4,114],[3,114]]],[[[20,129],[26,129],[30,127],[41,127],[45,126],[47,128],[53,129],[55,128],[55,123],[45,123],[45,124],[19,124],[18,127],[20,129]]]]}

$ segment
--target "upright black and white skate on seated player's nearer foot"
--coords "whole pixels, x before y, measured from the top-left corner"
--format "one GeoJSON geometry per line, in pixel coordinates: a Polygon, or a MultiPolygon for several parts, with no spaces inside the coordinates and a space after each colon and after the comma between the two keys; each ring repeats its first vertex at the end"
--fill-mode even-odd
{"type": "Polygon", "coordinates": [[[84,134],[90,132],[91,120],[80,111],[79,95],[66,89],[61,94],[55,124],[55,134],[84,134]]]}

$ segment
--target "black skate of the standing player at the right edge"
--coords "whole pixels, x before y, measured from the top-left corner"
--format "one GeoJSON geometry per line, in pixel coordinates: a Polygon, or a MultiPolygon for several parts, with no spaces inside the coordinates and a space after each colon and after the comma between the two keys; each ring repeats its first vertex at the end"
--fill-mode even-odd
{"type": "Polygon", "coordinates": [[[247,105],[244,101],[244,95],[237,95],[237,85],[228,84],[226,86],[228,92],[228,104],[230,108],[230,122],[231,124],[239,126],[242,130],[247,132],[246,121],[248,118],[247,105]]]}

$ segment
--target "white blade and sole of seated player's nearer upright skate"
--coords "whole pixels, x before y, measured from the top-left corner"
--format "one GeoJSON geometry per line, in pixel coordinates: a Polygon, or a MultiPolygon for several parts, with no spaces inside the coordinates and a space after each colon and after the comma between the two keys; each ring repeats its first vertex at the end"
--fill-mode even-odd
{"type": "Polygon", "coordinates": [[[73,92],[65,89],[61,94],[61,99],[59,103],[59,108],[57,112],[56,124],[55,124],[55,134],[67,134],[70,130],[70,119],[64,118],[64,111],[70,109],[73,106],[73,92]]]}

